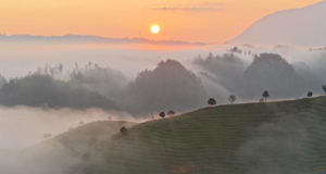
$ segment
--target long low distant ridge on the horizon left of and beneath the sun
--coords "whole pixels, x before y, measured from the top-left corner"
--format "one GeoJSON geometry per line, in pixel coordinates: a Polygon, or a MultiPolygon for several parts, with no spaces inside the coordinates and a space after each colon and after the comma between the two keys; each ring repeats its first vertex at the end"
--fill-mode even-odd
{"type": "Polygon", "coordinates": [[[203,46],[204,42],[188,42],[179,40],[149,40],[146,38],[110,38],[92,35],[64,35],[64,36],[42,36],[42,35],[1,35],[0,42],[3,41],[46,41],[46,42],[90,42],[90,44],[149,44],[149,45],[197,45],[203,46]]]}

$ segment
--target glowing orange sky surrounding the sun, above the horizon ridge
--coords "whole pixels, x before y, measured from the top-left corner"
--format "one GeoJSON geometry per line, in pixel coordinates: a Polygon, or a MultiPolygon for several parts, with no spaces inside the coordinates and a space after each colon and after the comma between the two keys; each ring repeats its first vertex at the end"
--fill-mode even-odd
{"type": "Polygon", "coordinates": [[[0,32],[223,44],[266,14],[321,0],[0,0],[0,32]],[[167,7],[168,5],[168,7],[167,7]],[[156,10],[153,10],[156,9],[156,10]],[[159,24],[153,35],[150,26],[159,24]]]}

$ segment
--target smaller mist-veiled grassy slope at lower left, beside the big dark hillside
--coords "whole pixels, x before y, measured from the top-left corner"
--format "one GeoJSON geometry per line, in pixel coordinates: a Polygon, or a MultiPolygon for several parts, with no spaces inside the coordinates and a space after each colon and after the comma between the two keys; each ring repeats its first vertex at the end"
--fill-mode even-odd
{"type": "Polygon", "coordinates": [[[98,121],[76,127],[16,153],[13,161],[17,164],[10,171],[24,169],[23,173],[28,174],[64,173],[68,166],[83,161],[83,154],[91,153],[91,149],[96,150],[100,142],[118,133],[122,126],[131,127],[135,124],[98,121]]]}

